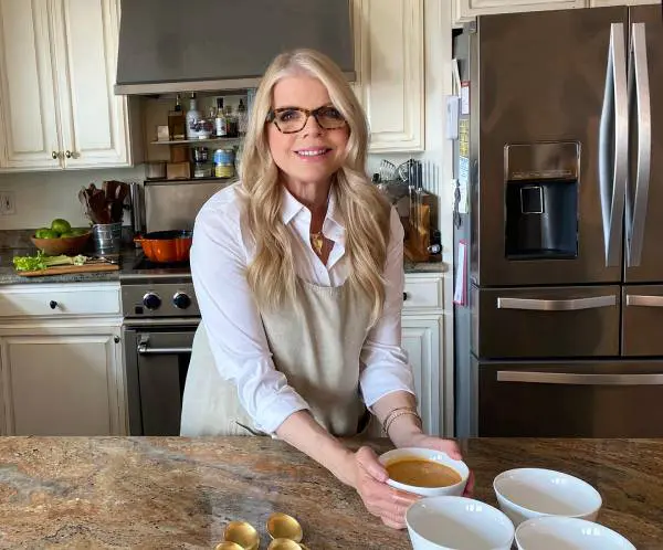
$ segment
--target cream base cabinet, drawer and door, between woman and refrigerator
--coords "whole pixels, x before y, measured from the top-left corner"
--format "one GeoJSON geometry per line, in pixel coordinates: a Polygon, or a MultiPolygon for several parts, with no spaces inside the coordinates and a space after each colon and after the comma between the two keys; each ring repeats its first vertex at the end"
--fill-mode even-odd
{"type": "Polygon", "coordinates": [[[423,429],[453,435],[453,366],[444,364],[441,274],[407,274],[401,342],[414,373],[423,429]]]}

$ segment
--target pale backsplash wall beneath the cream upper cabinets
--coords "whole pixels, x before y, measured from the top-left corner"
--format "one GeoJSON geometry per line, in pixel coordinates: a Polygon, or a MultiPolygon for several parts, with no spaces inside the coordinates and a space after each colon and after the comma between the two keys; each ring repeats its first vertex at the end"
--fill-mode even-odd
{"type": "MultiPolygon", "coordinates": [[[[367,166],[369,174],[379,170],[382,158],[400,163],[408,157],[371,155],[367,166]]],[[[50,225],[54,218],[64,218],[74,226],[87,225],[77,197],[82,187],[91,182],[101,184],[104,180],[141,182],[144,179],[144,165],[106,170],[0,173],[0,193],[13,194],[15,210],[14,214],[0,215],[0,231],[41,228],[50,225]]],[[[125,224],[129,224],[128,215],[125,215],[125,224]]]]}

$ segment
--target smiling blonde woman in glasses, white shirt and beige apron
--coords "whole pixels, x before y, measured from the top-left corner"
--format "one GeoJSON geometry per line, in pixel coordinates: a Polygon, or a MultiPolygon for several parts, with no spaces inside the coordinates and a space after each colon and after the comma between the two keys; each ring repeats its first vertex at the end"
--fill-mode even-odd
{"type": "Polygon", "coordinates": [[[275,435],[357,489],[394,528],[418,497],[389,487],[375,453],[335,436],[370,414],[397,446],[422,433],[400,347],[403,229],[365,173],[368,129],[326,56],[282,54],[257,89],[241,183],[196,220],[191,272],[202,322],[182,435],[275,435]]]}

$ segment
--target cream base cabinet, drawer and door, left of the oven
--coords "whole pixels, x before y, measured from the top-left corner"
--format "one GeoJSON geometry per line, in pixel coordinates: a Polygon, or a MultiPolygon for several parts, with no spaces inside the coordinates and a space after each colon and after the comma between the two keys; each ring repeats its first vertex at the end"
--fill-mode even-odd
{"type": "Polygon", "coordinates": [[[127,433],[119,315],[117,283],[0,287],[3,434],[127,433]]]}

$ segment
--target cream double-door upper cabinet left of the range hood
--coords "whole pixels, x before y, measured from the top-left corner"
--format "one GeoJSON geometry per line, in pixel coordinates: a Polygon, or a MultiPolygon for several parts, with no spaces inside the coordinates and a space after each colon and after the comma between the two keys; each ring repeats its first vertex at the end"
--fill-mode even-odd
{"type": "Polygon", "coordinates": [[[0,0],[0,170],[128,166],[119,0],[0,0]]]}

